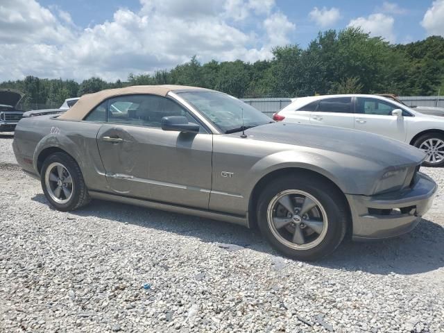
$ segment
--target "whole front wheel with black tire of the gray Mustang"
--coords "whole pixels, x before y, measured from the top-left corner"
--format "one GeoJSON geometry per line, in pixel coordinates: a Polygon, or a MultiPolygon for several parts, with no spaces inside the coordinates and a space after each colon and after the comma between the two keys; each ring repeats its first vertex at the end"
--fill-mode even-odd
{"type": "Polygon", "coordinates": [[[278,178],[257,205],[264,237],[289,257],[316,260],[332,253],[345,236],[348,206],[343,194],[316,175],[278,178]]]}

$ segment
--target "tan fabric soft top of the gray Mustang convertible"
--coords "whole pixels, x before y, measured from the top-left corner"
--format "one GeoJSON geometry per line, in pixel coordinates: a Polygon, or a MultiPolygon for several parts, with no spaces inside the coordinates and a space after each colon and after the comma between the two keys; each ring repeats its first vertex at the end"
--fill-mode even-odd
{"type": "Polygon", "coordinates": [[[169,92],[176,90],[211,91],[210,89],[189,87],[186,85],[133,85],[131,87],[106,89],[101,92],[95,92],[94,94],[83,95],[72,108],[58,118],[66,120],[82,120],[92,108],[95,108],[96,105],[99,105],[101,102],[105,101],[105,99],[109,99],[110,97],[130,94],[167,96],[169,92]]]}

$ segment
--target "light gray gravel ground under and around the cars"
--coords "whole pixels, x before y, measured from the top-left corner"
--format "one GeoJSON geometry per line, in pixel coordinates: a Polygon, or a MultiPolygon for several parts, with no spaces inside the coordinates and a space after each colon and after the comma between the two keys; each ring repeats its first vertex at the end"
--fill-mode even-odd
{"type": "Polygon", "coordinates": [[[257,232],[94,200],[51,209],[0,137],[0,332],[444,332],[444,169],[416,230],[321,262],[257,232]]]}

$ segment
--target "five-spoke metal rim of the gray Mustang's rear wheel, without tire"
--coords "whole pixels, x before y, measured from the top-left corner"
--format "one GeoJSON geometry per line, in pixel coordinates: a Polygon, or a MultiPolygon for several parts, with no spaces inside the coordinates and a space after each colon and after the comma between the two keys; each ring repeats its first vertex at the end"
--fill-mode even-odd
{"type": "Polygon", "coordinates": [[[63,164],[53,162],[44,175],[46,190],[56,203],[67,203],[72,196],[74,184],[71,175],[63,164]]]}

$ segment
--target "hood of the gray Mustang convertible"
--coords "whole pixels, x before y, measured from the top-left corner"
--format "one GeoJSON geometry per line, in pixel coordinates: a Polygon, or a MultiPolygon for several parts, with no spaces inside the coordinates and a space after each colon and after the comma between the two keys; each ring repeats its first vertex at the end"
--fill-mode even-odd
{"type": "Polygon", "coordinates": [[[416,165],[425,158],[425,153],[408,144],[345,128],[280,122],[250,128],[245,133],[248,139],[341,153],[370,160],[383,168],[416,165]]]}

